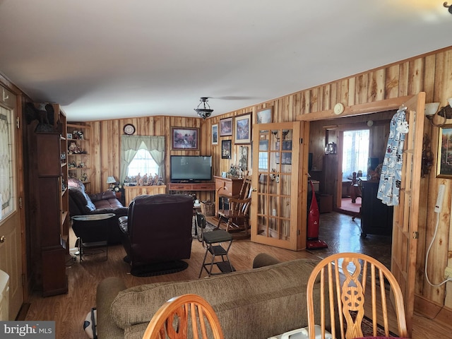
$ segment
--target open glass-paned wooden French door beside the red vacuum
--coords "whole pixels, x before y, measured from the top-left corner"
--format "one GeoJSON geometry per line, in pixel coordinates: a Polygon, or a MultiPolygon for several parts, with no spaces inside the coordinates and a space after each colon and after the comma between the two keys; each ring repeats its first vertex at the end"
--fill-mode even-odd
{"type": "Polygon", "coordinates": [[[254,125],[252,242],[292,250],[306,244],[306,211],[300,213],[300,206],[306,206],[307,194],[301,192],[307,185],[299,174],[307,173],[307,151],[301,126],[299,121],[254,125]]]}

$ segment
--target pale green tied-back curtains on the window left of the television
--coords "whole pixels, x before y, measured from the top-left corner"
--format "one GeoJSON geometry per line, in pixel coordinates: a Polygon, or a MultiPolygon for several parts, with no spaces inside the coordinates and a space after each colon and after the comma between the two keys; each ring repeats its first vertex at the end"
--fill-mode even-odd
{"type": "Polygon", "coordinates": [[[158,176],[165,179],[165,136],[122,136],[119,182],[124,182],[133,157],[141,149],[149,151],[150,156],[158,165],[158,176]]]}

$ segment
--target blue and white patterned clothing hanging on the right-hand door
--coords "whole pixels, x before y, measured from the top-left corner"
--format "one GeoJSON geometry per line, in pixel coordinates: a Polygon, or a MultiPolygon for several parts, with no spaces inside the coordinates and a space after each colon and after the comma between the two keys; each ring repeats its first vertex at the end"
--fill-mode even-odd
{"type": "Polygon", "coordinates": [[[407,107],[398,109],[389,126],[388,146],[381,167],[379,191],[376,197],[388,206],[398,206],[400,183],[402,179],[403,143],[408,133],[408,122],[405,120],[407,107]]]}

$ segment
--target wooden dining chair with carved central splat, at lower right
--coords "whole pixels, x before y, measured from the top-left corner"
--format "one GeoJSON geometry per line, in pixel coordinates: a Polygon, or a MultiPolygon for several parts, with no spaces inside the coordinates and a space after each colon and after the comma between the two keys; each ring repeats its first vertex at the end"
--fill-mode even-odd
{"type": "Polygon", "coordinates": [[[330,331],[333,338],[341,339],[371,335],[388,337],[391,300],[396,311],[397,334],[407,338],[403,295],[391,271],[365,254],[328,256],[314,268],[307,283],[309,339],[316,338],[311,331],[316,323],[321,326],[321,338],[325,338],[325,331],[330,331]],[[314,305],[314,285],[318,283],[321,302],[314,305]],[[320,316],[319,319],[315,314],[320,316]],[[363,335],[363,319],[371,333],[363,335]]]}

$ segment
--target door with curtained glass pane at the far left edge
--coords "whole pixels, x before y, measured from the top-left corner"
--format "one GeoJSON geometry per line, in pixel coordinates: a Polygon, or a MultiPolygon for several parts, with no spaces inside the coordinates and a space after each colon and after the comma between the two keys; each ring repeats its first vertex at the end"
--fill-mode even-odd
{"type": "Polygon", "coordinates": [[[9,275],[9,315],[23,304],[21,217],[18,206],[16,96],[0,86],[0,269],[9,275]]]}

